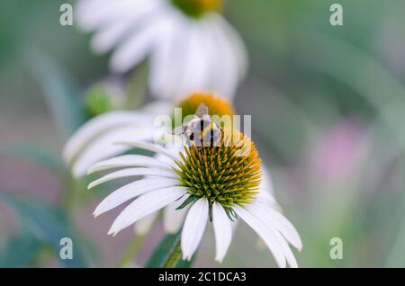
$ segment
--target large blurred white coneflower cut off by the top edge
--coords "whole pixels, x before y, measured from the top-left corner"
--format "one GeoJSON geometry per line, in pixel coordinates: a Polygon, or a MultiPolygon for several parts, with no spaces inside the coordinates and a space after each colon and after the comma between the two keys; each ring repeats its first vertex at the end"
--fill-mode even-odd
{"type": "Polygon", "coordinates": [[[111,68],[127,72],[150,57],[159,98],[211,90],[229,98],[247,68],[238,33],[218,13],[222,0],[80,0],[77,21],[95,31],[94,51],[114,49],[111,68]]]}

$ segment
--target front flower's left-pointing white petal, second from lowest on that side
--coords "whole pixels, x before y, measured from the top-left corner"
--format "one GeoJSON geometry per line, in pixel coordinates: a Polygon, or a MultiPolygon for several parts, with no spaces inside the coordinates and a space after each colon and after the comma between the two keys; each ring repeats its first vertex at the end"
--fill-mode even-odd
{"type": "Polygon", "coordinates": [[[130,199],[133,199],[145,192],[172,187],[177,183],[177,180],[166,178],[149,178],[128,183],[109,194],[102,202],[100,202],[100,204],[94,210],[94,216],[97,217],[106,211],[112,210],[125,201],[129,201],[130,199]]]}

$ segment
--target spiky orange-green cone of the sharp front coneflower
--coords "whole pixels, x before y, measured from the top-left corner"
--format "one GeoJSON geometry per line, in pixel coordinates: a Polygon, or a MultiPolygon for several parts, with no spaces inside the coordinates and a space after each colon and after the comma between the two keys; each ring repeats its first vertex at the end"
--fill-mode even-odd
{"type": "Polygon", "coordinates": [[[180,156],[175,172],[190,194],[187,202],[217,202],[231,214],[232,207],[255,201],[261,160],[253,142],[238,130],[224,130],[217,147],[184,147],[180,156]]]}

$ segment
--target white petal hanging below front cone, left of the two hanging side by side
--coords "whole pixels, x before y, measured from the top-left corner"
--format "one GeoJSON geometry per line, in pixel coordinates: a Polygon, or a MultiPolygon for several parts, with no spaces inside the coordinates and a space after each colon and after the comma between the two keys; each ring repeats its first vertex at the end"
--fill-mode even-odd
{"type": "Polygon", "coordinates": [[[180,245],[184,260],[190,260],[200,245],[208,220],[208,201],[195,201],[185,217],[180,245]]]}

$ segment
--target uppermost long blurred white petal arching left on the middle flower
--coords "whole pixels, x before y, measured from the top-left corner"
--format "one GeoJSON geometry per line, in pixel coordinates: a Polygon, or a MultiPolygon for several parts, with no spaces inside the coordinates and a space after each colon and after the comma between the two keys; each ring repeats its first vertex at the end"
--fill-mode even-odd
{"type": "MultiPolygon", "coordinates": [[[[63,148],[63,159],[67,164],[71,164],[83,147],[103,132],[127,125],[145,126],[150,124],[152,126],[152,122],[148,115],[139,112],[108,112],[94,117],[67,141],[63,148]]],[[[132,136],[136,138],[136,134],[132,134],[132,136]]]]}

